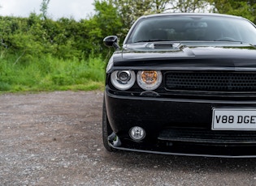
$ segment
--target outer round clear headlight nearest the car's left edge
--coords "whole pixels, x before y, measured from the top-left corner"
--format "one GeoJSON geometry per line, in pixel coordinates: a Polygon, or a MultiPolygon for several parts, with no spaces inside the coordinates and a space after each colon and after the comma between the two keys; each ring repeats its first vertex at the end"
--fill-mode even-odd
{"type": "Polygon", "coordinates": [[[132,70],[116,70],[111,74],[113,86],[121,91],[131,88],[135,81],[136,75],[132,70]]]}

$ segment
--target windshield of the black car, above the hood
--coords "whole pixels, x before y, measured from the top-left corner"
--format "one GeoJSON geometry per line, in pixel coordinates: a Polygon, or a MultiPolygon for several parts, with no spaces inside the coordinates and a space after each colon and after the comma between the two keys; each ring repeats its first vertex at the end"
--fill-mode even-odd
{"type": "Polygon", "coordinates": [[[207,15],[164,15],[137,21],[127,44],[149,41],[230,41],[256,44],[256,28],[246,19],[207,15]]]}

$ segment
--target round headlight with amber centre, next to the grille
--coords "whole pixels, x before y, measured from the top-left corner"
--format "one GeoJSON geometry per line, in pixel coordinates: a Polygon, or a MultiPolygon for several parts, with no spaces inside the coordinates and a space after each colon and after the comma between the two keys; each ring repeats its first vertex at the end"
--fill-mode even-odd
{"type": "Polygon", "coordinates": [[[137,73],[137,83],[145,91],[154,91],[162,82],[160,71],[145,70],[137,73]]]}

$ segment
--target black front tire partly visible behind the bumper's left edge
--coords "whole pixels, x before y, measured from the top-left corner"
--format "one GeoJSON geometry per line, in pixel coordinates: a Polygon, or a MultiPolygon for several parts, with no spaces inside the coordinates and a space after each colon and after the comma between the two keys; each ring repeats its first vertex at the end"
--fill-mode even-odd
{"type": "Polygon", "coordinates": [[[102,139],[103,139],[103,145],[104,145],[105,149],[109,152],[115,151],[115,149],[112,148],[108,142],[108,136],[111,135],[111,133],[113,133],[113,131],[111,129],[111,125],[106,116],[106,104],[105,104],[105,99],[104,99],[103,109],[102,109],[102,139]]]}

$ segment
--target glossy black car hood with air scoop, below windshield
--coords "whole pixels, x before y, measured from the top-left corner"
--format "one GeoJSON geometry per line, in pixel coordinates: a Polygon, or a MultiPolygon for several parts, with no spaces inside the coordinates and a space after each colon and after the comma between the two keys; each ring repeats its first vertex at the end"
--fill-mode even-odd
{"type": "Polygon", "coordinates": [[[254,67],[256,47],[240,42],[154,42],[126,44],[114,66],[254,67]]]}

